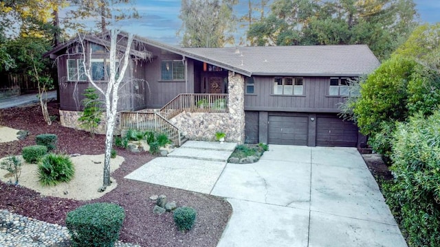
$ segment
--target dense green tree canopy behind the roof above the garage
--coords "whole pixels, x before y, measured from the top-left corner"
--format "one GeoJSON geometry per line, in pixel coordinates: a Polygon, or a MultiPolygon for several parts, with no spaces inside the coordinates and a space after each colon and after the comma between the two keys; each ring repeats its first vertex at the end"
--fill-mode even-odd
{"type": "Polygon", "coordinates": [[[248,31],[251,45],[366,44],[388,58],[416,25],[412,0],[276,0],[248,31]]]}

